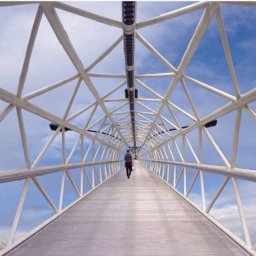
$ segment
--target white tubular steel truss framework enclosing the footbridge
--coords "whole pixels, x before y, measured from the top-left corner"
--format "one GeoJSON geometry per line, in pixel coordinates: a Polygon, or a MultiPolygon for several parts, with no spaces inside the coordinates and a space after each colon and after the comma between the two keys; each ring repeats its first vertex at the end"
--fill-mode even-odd
{"type": "MultiPolygon", "coordinates": [[[[248,180],[256,182],[256,170],[251,169],[242,169],[236,167],[236,156],[237,156],[237,147],[238,139],[240,134],[240,124],[241,124],[241,114],[242,110],[252,118],[253,121],[256,121],[256,113],[250,108],[249,104],[256,100],[256,88],[248,91],[245,94],[241,94],[240,87],[237,81],[236,72],[234,69],[234,64],[231,57],[231,52],[229,49],[229,43],[227,40],[226,30],[222,19],[221,5],[241,5],[246,7],[256,7],[256,2],[199,2],[195,4],[182,7],[180,9],[167,12],[166,14],[157,16],[145,20],[143,22],[136,23],[136,2],[131,2],[133,5],[133,14],[134,19],[133,23],[125,23],[124,14],[123,22],[106,18],[100,15],[93,14],[86,10],[73,7],[69,4],[61,2],[0,2],[0,6],[8,5],[19,5],[19,4],[37,4],[38,11],[34,19],[34,24],[31,30],[31,35],[29,43],[27,45],[27,51],[25,60],[22,67],[22,72],[20,74],[20,79],[17,84],[16,94],[11,93],[8,90],[0,88],[0,100],[7,102],[8,106],[0,113],[0,122],[4,118],[8,117],[8,114],[12,110],[16,109],[18,125],[20,130],[20,137],[22,142],[22,147],[24,151],[24,158],[26,162],[26,168],[18,170],[5,170],[0,172],[0,183],[24,180],[24,185],[22,193],[20,195],[19,204],[16,210],[15,218],[10,230],[10,235],[8,241],[5,243],[1,242],[1,252],[5,253],[10,251],[20,242],[29,238],[32,234],[40,230],[42,227],[50,223],[53,219],[59,217],[63,212],[72,207],[79,200],[83,199],[88,193],[97,188],[100,184],[107,181],[110,177],[116,174],[121,167],[121,161],[123,160],[125,150],[129,147],[132,151],[134,157],[138,158],[148,169],[150,169],[154,174],[159,178],[164,180],[174,191],[176,191],[180,196],[187,200],[193,207],[196,208],[204,217],[209,219],[214,225],[231,237],[237,244],[242,246],[248,253],[256,255],[256,245],[253,245],[251,242],[251,237],[248,231],[248,226],[246,223],[246,216],[243,209],[243,204],[237,184],[237,179],[248,180]],[[82,16],[87,19],[91,19],[97,22],[104,23],[106,26],[114,26],[120,29],[120,36],[106,48],[88,67],[84,67],[82,62],[79,59],[78,54],[74,46],[72,45],[71,40],[69,39],[61,20],[57,14],[57,9],[71,12],[72,14],[82,16]],[[178,16],[188,14],[190,12],[195,12],[197,10],[204,10],[203,15],[196,27],[195,32],[187,46],[187,49],[180,61],[180,64],[175,68],[164,56],[162,56],[157,49],[155,49],[139,32],[140,29],[144,27],[150,27],[157,23],[164,22],[166,20],[175,19],[178,16]],[[39,25],[41,23],[42,15],[45,15],[52,30],[54,31],[56,37],[58,38],[61,46],[64,48],[65,53],[72,61],[77,74],[74,74],[68,78],[63,78],[63,80],[56,82],[54,84],[45,86],[41,89],[35,90],[32,93],[23,95],[23,88],[26,81],[27,72],[29,69],[29,63],[31,54],[33,52],[33,47],[35,39],[37,37],[37,32],[39,25]],[[199,45],[204,33],[206,32],[212,18],[215,16],[218,23],[219,35],[221,37],[223,50],[225,52],[225,57],[227,65],[229,68],[234,95],[226,93],[220,89],[215,88],[209,84],[203,83],[199,80],[196,80],[186,74],[184,74],[186,67],[191,61],[197,46],[199,45]],[[125,38],[125,40],[123,40],[125,38]],[[128,38],[128,39],[127,39],[128,38]],[[127,40],[132,38],[132,55],[128,56],[127,51],[127,40]],[[158,73],[158,74],[135,74],[136,72],[136,56],[134,53],[134,44],[136,40],[140,41],[162,64],[170,69],[170,72],[158,73]],[[124,41],[124,56],[125,56],[125,68],[126,73],[123,75],[117,74],[104,74],[104,73],[93,73],[90,72],[95,65],[97,65],[101,60],[103,60],[114,48],[117,47],[122,41],[124,41]],[[129,63],[129,60],[132,60],[129,63]],[[118,84],[114,89],[109,90],[107,94],[103,97],[100,96],[99,92],[94,86],[91,78],[116,78],[123,79],[123,82],[118,84]],[[142,82],[141,80],[147,78],[170,78],[171,83],[169,88],[165,91],[164,95],[157,93],[156,90],[152,89],[150,86],[142,82]],[[65,113],[62,118],[57,117],[51,112],[48,112],[42,108],[39,108],[36,104],[30,102],[31,99],[36,99],[40,95],[45,93],[51,93],[58,87],[63,86],[71,81],[76,80],[76,87],[74,91],[71,91],[71,98],[67,107],[65,108],[65,113]],[[74,99],[78,93],[78,89],[82,83],[86,84],[91,94],[94,97],[93,102],[85,106],[83,109],[80,109],[75,114],[69,115],[74,99]],[[195,86],[207,90],[217,97],[224,98],[228,103],[214,112],[199,117],[196,106],[192,100],[189,90],[186,83],[193,83],[195,86]],[[170,97],[173,94],[177,84],[180,83],[183,93],[193,111],[193,115],[188,113],[182,106],[177,106],[174,104],[170,97]],[[152,98],[135,98],[135,84],[138,86],[138,89],[144,89],[152,95],[152,98]],[[122,88],[128,88],[129,97],[128,98],[108,98],[109,96],[114,96],[115,92],[122,88]],[[113,110],[108,110],[107,103],[113,102],[116,103],[117,107],[113,110]],[[153,109],[148,106],[147,103],[159,103],[158,109],[153,109]],[[94,116],[94,113],[101,109],[103,115],[98,120],[94,120],[91,124],[91,120],[94,116]],[[164,114],[163,110],[168,111],[168,116],[164,114]],[[34,115],[45,118],[50,122],[56,124],[56,131],[53,132],[52,137],[45,144],[41,153],[34,162],[31,162],[29,157],[29,147],[27,143],[27,134],[24,126],[24,120],[22,111],[26,110],[34,115]],[[73,124],[71,121],[76,117],[81,116],[87,110],[91,110],[91,113],[87,120],[84,121],[84,127],[81,129],[78,125],[73,124]],[[231,161],[228,161],[225,154],[221,151],[218,144],[212,138],[210,132],[208,131],[207,124],[211,121],[218,119],[230,112],[236,112],[236,121],[234,127],[234,138],[233,146],[231,153],[231,161]],[[191,125],[187,127],[182,127],[180,121],[178,120],[177,114],[180,113],[185,117],[189,118],[192,122],[191,125]],[[135,118],[136,117],[136,118],[135,118]],[[169,118],[171,117],[171,118],[169,118]],[[173,121],[170,121],[173,120],[173,121]],[[205,126],[206,125],[206,126],[205,126]],[[198,129],[199,135],[199,154],[197,155],[193,144],[188,139],[188,133],[198,129]],[[78,139],[74,144],[71,153],[66,158],[65,154],[65,131],[71,130],[78,134],[78,139]],[[172,131],[175,130],[176,133],[172,131]],[[61,165],[51,165],[38,167],[38,163],[57,138],[57,135],[61,132],[61,142],[62,142],[62,164],[61,165]],[[206,165],[202,160],[202,136],[203,134],[208,138],[211,146],[219,155],[219,158],[223,162],[223,166],[215,165],[206,165]],[[87,147],[87,150],[84,151],[84,140],[89,139],[90,143],[87,147]],[[177,140],[181,139],[181,147],[178,145],[177,140]],[[71,163],[71,158],[75,154],[77,148],[80,145],[80,161],[76,163],[71,163]],[[132,146],[131,146],[132,145],[132,146]],[[187,162],[185,157],[185,147],[188,147],[190,153],[195,158],[194,162],[187,162]],[[177,155],[178,154],[178,155],[177,155]],[[88,160],[88,156],[91,155],[92,158],[88,160]],[[178,156],[181,161],[178,161],[176,156],[178,156]],[[177,175],[176,168],[181,166],[180,173],[177,175]],[[78,169],[80,171],[80,187],[78,187],[75,181],[72,178],[72,174],[69,170],[78,169]],[[91,173],[87,172],[87,168],[91,169],[91,173]],[[195,176],[193,177],[189,186],[187,186],[186,179],[186,168],[192,168],[196,170],[195,176]],[[60,188],[60,198],[59,205],[56,206],[49,195],[46,193],[44,187],[38,180],[38,176],[50,174],[50,173],[62,173],[61,178],[61,188],[60,188]],[[204,172],[221,174],[225,176],[224,181],[221,186],[218,188],[218,191],[212,198],[210,204],[206,204],[205,195],[204,195],[204,172]],[[87,181],[90,184],[89,191],[84,191],[83,188],[83,179],[86,177],[87,181]],[[64,198],[64,187],[65,187],[65,178],[68,178],[71,182],[75,192],[77,193],[78,198],[69,206],[63,208],[63,198],[64,198]],[[172,177],[172,179],[171,179],[172,177]],[[193,185],[195,184],[196,178],[200,177],[200,194],[202,195],[202,208],[197,206],[191,200],[188,199],[188,195],[191,192],[193,185]],[[177,189],[181,178],[184,180],[184,191],[181,193],[177,189]],[[22,214],[23,204],[27,195],[27,190],[31,180],[34,182],[35,186],[39,189],[42,195],[45,197],[49,205],[52,207],[54,214],[47,221],[41,225],[35,227],[25,236],[15,240],[16,230],[19,224],[20,216],[22,214]],[[239,211],[239,216],[241,219],[242,230],[244,233],[245,241],[239,238],[236,234],[232,233],[227,229],[221,222],[214,219],[209,213],[214,203],[218,199],[219,195],[225,188],[227,182],[231,180],[234,195],[236,197],[237,207],[239,211]],[[97,181],[97,182],[96,182],[97,181]],[[171,183],[172,182],[172,183],[171,183]],[[98,185],[95,185],[95,184],[98,185]]],[[[128,2],[127,2],[128,3],[128,2]]],[[[130,2],[129,2],[130,3],[130,2]]],[[[126,4],[123,4],[125,8],[126,4]]],[[[125,9],[123,9],[124,12],[125,9]]],[[[121,10],[120,10],[121,13],[121,10]]]]}

